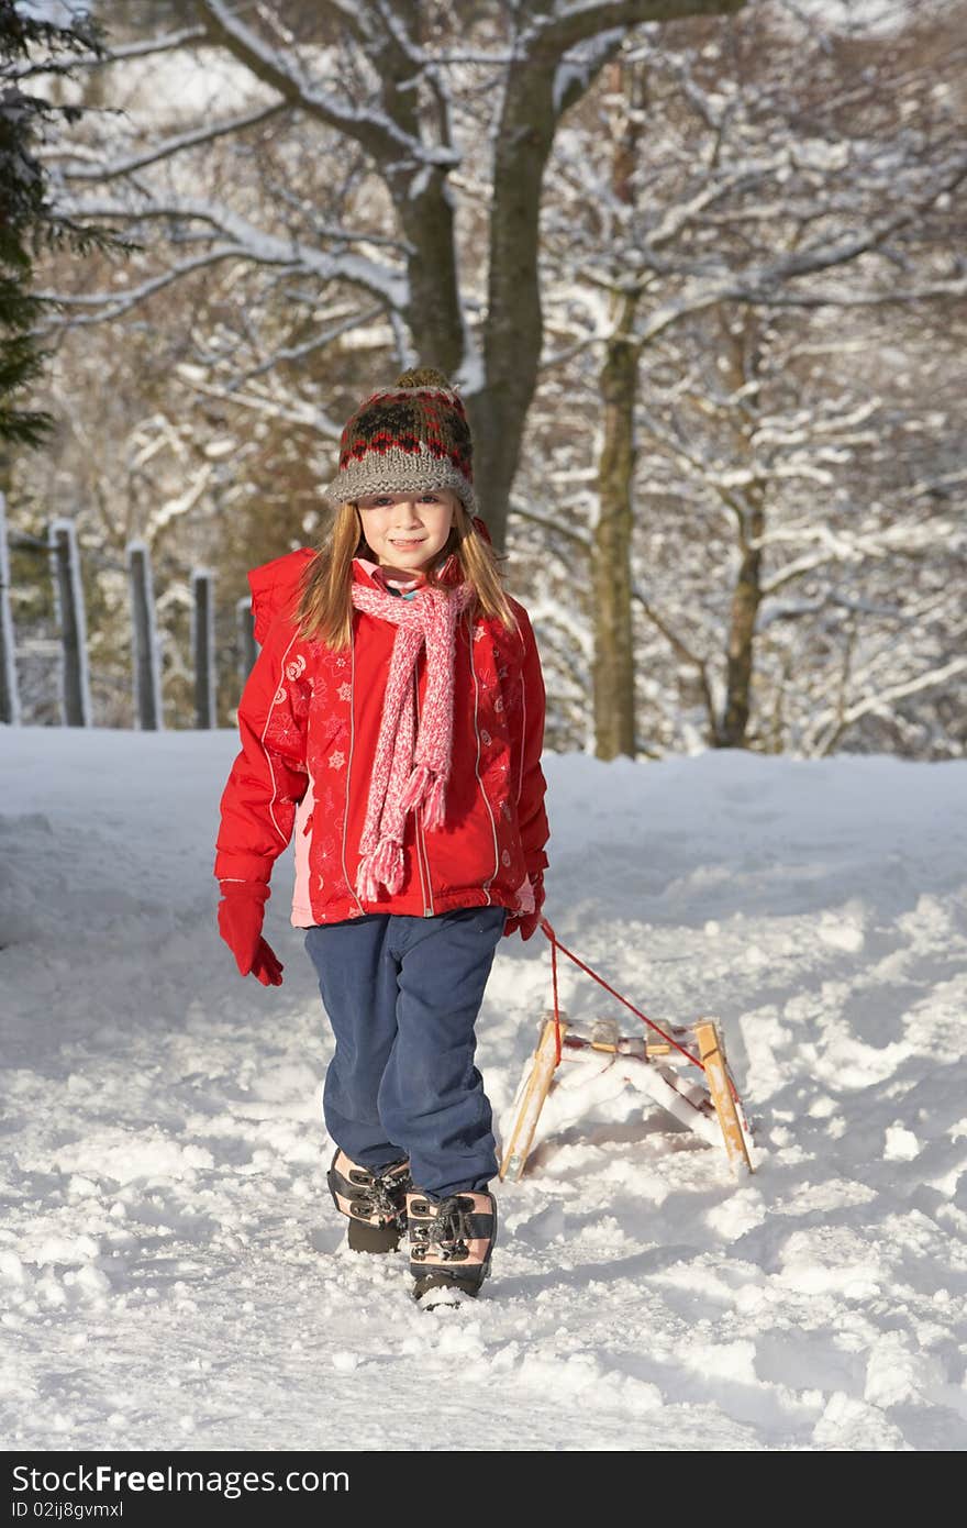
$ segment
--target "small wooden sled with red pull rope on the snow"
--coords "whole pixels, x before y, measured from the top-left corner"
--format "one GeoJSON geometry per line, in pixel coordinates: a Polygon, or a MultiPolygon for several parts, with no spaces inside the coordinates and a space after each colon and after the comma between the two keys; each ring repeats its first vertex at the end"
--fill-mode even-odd
{"type": "Polygon", "coordinates": [[[617,1082],[620,1086],[623,1082],[639,1088],[710,1146],[724,1148],[733,1172],[739,1175],[753,1172],[752,1131],[729,1071],[718,1021],[700,1018],[690,1025],[658,1028],[626,998],[608,987],[590,966],[565,949],[547,918],[541,920],[541,929],[551,941],[555,1005],[541,1016],[538,1047],[524,1067],[510,1108],[512,1126],[501,1154],[501,1180],[513,1181],[522,1175],[544,1103],[558,1085],[567,1086],[568,1077],[559,1073],[559,1067],[568,1060],[587,1059],[594,1051],[611,1057],[597,1073],[599,1077],[606,1073],[606,1083],[617,1082]],[[558,949],[631,1008],[655,1038],[620,1034],[616,1019],[593,1021],[590,1036],[573,1033],[567,1015],[558,1004],[558,949]]]}

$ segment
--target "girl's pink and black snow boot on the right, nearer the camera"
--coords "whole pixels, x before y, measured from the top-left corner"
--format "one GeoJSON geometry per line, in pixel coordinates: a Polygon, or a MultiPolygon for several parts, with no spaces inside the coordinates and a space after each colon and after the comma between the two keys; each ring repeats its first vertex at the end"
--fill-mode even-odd
{"type": "Polygon", "coordinates": [[[406,1222],[414,1300],[432,1311],[460,1305],[460,1296],[475,1299],[490,1273],[496,1239],[493,1195],[467,1190],[431,1199],[414,1189],[406,1195],[406,1222]]]}

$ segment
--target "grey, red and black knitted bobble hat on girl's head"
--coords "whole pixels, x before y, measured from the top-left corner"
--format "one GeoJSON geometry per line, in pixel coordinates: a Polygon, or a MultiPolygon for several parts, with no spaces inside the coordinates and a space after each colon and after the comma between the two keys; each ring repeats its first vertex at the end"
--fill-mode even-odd
{"type": "Polygon", "coordinates": [[[325,487],[331,503],[362,494],[431,492],[449,487],[469,515],[474,443],[463,399],[434,367],[402,371],[393,387],[370,393],[339,440],[339,471],[325,487]]]}

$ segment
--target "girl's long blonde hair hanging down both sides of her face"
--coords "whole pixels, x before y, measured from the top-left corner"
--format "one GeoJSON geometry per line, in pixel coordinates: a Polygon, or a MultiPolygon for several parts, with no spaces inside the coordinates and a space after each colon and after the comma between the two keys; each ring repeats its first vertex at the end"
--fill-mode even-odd
{"type": "MultiPolygon", "coordinates": [[[[298,636],[309,642],[324,642],[328,648],[348,648],[353,636],[353,558],[370,552],[354,500],[338,506],[328,535],[315,558],[306,564],[299,582],[295,623],[298,636]]],[[[477,614],[496,617],[507,631],[519,633],[513,608],[504,593],[498,553],[483,536],[461,498],[454,495],[454,523],[446,545],[432,567],[425,568],[431,588],[441,588],[440,568],[457,553],[463,578],[474,585],[471,619],[477,614]]]]}

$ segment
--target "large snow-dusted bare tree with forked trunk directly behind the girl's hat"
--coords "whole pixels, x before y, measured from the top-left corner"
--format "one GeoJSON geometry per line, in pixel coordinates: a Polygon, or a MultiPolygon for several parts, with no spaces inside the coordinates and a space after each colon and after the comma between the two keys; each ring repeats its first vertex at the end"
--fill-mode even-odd
{"type": "MultiPolygon", "coordinates": [[[[84,153],[64,147],[57,163],[64,206],[144,237],[154,229],[159,243],[159,269],[121,292],[75,295],[75,313],[131,312],[223,261],[281,278],[287,299],[307,312],[342,295],[342,316],[313,325],[306,350],[333,347],[347,329],[371,324],[376,309],[399,362],[422,359],[463,384],[486,513],[503,545],[542,347],[539,212],[559,124],[642,23],[736,12],[741,3],[275,0],[252,11],[192,0],[183,8],[188,24],[118,43],[112,64],[92,58],[90,67],[124,69],[147,57],[157,64],[159,55],[186,50],[218,57],[232,63],[243,104],[186,107],[165,134],[151,125],[139,131],[136,121],[130,139],[108,119],[84,153]],[[481,113],[487,156],[471,165],[481,113]],[[309,197],[293,194],[284,174],[273,177],[255,217],[247,177],[225,176],[211,188],[205,165],[220,142],[243,163],[267,130],[284,130],[302,162],[310,156],[325,170],[309,197]],[[464,180],[477,196],[466,209],[472,249],[458,238],[464,180]]],[[[336,437],[321,410],[318,425],[336,437]]]]}

